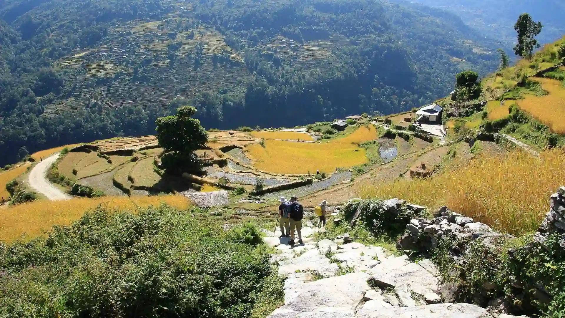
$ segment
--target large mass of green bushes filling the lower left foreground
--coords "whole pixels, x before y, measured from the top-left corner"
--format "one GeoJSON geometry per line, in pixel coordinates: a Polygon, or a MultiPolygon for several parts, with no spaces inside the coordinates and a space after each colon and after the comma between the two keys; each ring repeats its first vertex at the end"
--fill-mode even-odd
{"type": "Polygon", "coordinates": [[[164,205],[98,208],[46,238],[0,244],[0,316],[249,317],[269,256],[225,236],[164,205]]]}

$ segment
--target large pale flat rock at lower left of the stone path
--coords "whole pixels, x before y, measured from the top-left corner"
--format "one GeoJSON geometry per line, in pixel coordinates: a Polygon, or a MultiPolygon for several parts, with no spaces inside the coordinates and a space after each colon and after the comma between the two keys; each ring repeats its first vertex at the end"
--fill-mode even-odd
{"type": "Polygon", "coordinates": [[[367,285],[370,276],[363,272],[324,278],[299,285],[294,293],[285,293],[282,308],[306,312],[321,311],[330,307],[353,309],[371,287],[367,285]]]}

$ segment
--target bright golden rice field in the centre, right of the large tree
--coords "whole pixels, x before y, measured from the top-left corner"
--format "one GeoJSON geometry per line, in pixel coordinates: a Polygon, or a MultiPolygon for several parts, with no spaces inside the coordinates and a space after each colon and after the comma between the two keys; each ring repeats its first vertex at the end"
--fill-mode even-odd
{"type": "Polygon", "coordinates": [[[246,147],[259,170],[280,174],[306,174],[316,170],[332,173],[337,167],[352,167],[367,162],[365,150],[355,144],[265,140],[265,147],[246,147]]]}

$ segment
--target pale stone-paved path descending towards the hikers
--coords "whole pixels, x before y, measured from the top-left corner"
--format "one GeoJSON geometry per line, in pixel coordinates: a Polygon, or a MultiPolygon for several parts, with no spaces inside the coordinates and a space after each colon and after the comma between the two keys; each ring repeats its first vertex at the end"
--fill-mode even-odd
{"type": "Polygon", "coordinates": [[[311,222],[302,229],[303,244],[263,230],[265,243],[280,253],[271,260],[284,285],[284,306],[267,318],[510,318],[466,303],[441,303],[438,270],[429,260],[413,263],[382,247],[344,238],[315,242],[311,222]],[[345,273],[345,274],[344,274],[345,273]]]}

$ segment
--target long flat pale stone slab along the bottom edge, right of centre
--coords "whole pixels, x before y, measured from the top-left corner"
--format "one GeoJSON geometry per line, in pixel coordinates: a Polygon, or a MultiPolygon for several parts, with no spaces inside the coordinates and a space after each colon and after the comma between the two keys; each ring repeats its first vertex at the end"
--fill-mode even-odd
{"type": "Polygon", "coordinates": [[[465,303],[431,304],[418,307],[361,308],[358,318],[486,318],[492,317],[477,305],[465,303]]]}

